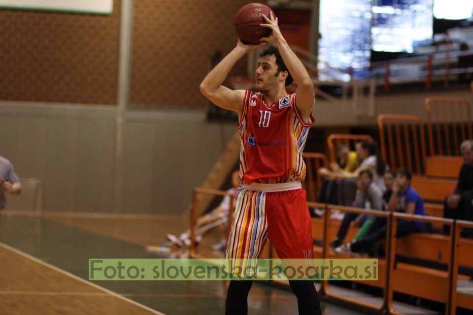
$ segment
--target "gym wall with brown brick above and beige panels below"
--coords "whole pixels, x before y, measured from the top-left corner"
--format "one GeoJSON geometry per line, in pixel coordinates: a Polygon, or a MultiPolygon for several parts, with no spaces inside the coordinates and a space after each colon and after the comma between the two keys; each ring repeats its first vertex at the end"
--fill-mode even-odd
{"type": "MultiPolygon", "coordinates": [[[[206,122],[199,83],[214,51],[236,44],[233,18],[243,3],[134,1],[120,172],[121,1],[109,16],[0,10],[0,155],[20,177],[42,180],[43,210],[185,210],[236,130],[236,122],[206,122]]],[[[235,73],[245,68],[243,60],[235,73]]]]}

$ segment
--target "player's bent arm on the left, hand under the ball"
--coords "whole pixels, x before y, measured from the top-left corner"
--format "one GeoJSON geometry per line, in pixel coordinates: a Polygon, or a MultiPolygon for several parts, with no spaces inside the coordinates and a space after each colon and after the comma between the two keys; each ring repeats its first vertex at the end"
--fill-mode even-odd
{"type": "Polygon", "coordinates": [[[240,116],[245,91],[231,90],[224,87],[222,83],[241,57],[264,45],[265,43],[259,45],[245,45],[238,40],[236,47],[203,79],[200,85],[202,94],[215,105],[224,109],[233,110],[240,116]]]}

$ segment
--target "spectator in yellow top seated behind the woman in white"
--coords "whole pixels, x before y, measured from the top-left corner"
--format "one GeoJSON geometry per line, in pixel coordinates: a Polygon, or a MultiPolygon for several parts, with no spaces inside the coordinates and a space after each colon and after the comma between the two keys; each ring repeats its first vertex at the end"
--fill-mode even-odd
{"type": "MultiPolygon", "coordinates": [[[[345,144],[340,144],[337,147],[337,162],[330,163],[330,168],[333,172],[338,173],[342,170],[345,172],[353,172],[358,166],[358,158],[355,151],[350,151],[345,144]]],[[[325,167],[319,169],[319,174],[324,177],[322,187],[319,192],[318,201],[322,203],[338,203],[337,187],[338,183],[330,171],[325,167]]]]}

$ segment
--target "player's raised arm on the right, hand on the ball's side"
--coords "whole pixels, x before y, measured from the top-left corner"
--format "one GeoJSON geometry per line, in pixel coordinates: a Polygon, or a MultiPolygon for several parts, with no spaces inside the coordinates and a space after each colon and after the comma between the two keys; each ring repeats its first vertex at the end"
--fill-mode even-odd
{"type": "Polygon", "coordinates": [[[267,24],[261,24],[261,26],[270,28],[272,33],[271,36],[263,37],[261,40],[270,42],[279,49],[282,60],[284,60],[287,69],[297,83],[297,108],[304,122],[308,122],[309,115],[312,113],[315,104],[314,84],[312,83],[312,79],[305,69],[304,64],[301,63],[282,36],[277,26],[277,18],[275,18],[272,13],[270,14],[270,18],[266,16],[264,16],[264,18],[267,24]]]}

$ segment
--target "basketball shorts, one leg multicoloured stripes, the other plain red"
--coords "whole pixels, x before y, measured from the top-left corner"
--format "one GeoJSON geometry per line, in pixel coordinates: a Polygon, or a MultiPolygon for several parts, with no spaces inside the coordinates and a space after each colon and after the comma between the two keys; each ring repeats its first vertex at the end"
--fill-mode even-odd
{"type": "Polygon", "coordinates": [[[259,258],[268,237],[279,258],[312,258],[312,225],[300,182],[237,189],[227,258],[259,258]]]}

